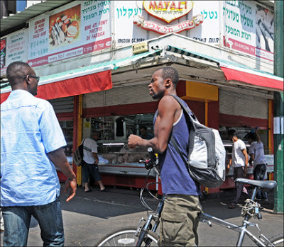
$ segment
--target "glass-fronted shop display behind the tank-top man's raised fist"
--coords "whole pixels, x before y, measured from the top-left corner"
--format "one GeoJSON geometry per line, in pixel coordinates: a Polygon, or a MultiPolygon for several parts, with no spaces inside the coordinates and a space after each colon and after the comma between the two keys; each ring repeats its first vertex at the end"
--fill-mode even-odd
{"type": "MultiPolygon", "coordinates": [[[[146,149],[129,149],[127,139],[130,134],[140,134],[140,127],[146,126],[153,132],[153,114],[90,117],[84,121],[86,137],[94,130],[100,133],[98,144],[99,171],[118,176],[146,176],[148,171],[139,161],[148,157],[146,149]],[[89,134],[86,127],[89,126],[89,134]]],[[[151,171],[149,176],[155,177],[151,171]]]]}

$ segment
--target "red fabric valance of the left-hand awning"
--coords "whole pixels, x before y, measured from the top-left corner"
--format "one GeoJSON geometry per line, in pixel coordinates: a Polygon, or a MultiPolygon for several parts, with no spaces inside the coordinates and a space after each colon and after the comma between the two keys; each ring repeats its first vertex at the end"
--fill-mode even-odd
{"type": "MultiPolygon", "coordinates": [[[[111,71],[107,70],[96,74],[88,74],[86,76],[40,85],[38,86],[38,95],[36,97],[51,100],[53,98],[76,96],[111,88],[111,71]]],[[[9,94],[10,92],[1,93],[1,103],[8,98],[9,94]]]]}

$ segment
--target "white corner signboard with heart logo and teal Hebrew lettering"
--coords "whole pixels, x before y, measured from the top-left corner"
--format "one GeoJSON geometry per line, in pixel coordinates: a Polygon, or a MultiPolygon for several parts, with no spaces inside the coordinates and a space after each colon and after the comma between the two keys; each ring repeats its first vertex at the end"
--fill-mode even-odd
{"type": "Polygon", "coordinates": [[[114,1],[114,40],[123,46],[180,33],[219,44],[219,20],[219,1],[114,1]]]}

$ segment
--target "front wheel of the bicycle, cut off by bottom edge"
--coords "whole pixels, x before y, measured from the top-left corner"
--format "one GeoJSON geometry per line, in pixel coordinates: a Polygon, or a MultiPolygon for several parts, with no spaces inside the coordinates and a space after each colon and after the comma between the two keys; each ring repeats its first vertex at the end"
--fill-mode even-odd
{"type": "MultiPolygon", "coordinates": [[[[136,246],[138,237],[135,236],[136,226],[130,226],[113,231],[104,236],[95,246],[136,246]]],[[[158,246],[158,235],[153,231],[148,231],[147,238],[151,239],[151,246],[158,246]]],[[[143,242],[141,246],[145,246],[143,242]]]]}

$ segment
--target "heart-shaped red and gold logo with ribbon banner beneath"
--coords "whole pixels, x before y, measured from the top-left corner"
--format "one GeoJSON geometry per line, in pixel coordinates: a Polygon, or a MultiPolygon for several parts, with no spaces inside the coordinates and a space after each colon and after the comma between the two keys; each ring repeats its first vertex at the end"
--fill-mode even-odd
{"type": "MultiPolygon", "coordinates": [[[[143,1],[143,8],[155,18],[166,23],[175,21],[187,15],[192,10],[192,1],[143,1]]],[[[198,14],[190,20],[182,21],[174,25],[162,25],[154,21],[148,21],[143,16],[134,16],[133,23],[145,30],[151,30],[159,34],[180,33],[190,30],[203,23],[203,15],[198,14]]]]}

